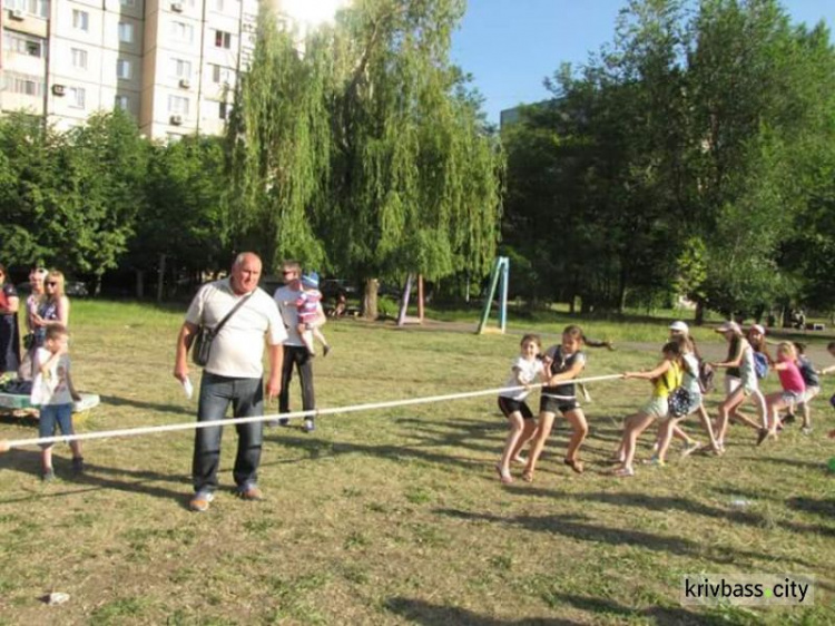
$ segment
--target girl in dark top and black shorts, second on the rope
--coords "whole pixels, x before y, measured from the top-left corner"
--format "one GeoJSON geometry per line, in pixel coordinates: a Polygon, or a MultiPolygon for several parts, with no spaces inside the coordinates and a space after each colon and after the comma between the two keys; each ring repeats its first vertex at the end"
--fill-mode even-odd
{"type": "MultiPolygon", "coordinates": [[[[583,472],[582,462],[577,458],[577,454],[589,432],[589,427],[577,399],[577,385],[571,382],[586,368],[586,354],[581,350],[583,345],[582,336],[580,326],[573,324],[566,326],[562,331],[562,343],[552,345],[546,351],[543,360],[546,372],[540,398],[539,420],[531,440],[528,462],[522,472],[522,480],[525,482],[533,481],[537,461],[546,447],[548,436],[551,434],[557,411],[563,414],[573,430],[563,463],[577,473],[583,472]]],[[[524,439],[520,437],[511,458],[519,456],[524,443],[524,439]]]]}

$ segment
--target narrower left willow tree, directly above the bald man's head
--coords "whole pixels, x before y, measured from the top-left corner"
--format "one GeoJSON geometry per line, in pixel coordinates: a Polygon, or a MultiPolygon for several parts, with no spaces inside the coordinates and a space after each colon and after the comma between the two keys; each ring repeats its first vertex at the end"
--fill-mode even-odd
{"type": "Polygon", "coordinates": [[[257,250],[274,268],[282,258],[322,266],[314,216],[326,202],[330,50],[279,30],[262,3],[252,62],[239,74],[227,126],[224,232],[232,250],[257,250]]]}

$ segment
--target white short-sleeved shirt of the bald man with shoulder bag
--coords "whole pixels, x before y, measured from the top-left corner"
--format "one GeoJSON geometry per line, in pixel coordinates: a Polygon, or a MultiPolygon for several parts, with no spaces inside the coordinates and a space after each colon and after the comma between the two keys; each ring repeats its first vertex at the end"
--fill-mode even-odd
{"type": "MultiPolygon", "coordinates": [[[[191,301],[186,321],[215,327],[244,297],[246,294],[237,295],[232,291],[229,278],[208,283],[191,301]]],[[[273,299],[256,287],[220,329],[204,370],[220,376],[262,378],[265,336],[269,345],[278,345],[287,339],[287,332],[273,299]]]]}

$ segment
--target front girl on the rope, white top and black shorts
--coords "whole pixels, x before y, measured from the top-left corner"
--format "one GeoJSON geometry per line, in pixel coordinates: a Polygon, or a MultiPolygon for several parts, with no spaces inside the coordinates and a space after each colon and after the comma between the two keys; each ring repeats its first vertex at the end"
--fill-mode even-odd
{"type": "Polygon", "coordinates": [[[511,376],[504,383],[504,387],[524,387],[524,389],[508,390],[499,393],[499,409],[508,418],[508,426],[510,427],[510,432],[508,432],[508,439],[504,443],[504,451],[502,452],[501,460],[495,466],[499,479],[504,485],[513,482],[513,477],[510,475],[511,461],[521,461],[520,458],[513,457],[513,450],[520,441],[524,443],[533,437],[533,432],[537,430],[533,413],[524,399],[531,392],[530,384],[537,376],[542,375],[544,372],[542,361],[539,359],[539,351],[542,346],[539,335],[524,335],[520,346],[521,354],[513,361],[511,376]]]}

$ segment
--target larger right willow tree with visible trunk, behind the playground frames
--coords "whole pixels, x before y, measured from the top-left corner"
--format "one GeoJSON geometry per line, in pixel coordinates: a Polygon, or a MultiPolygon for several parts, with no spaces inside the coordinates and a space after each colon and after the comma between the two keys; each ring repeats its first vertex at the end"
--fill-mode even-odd
{"type": "Polygon", "coordinates": [[[331,208],[334,263],[380,277],[487,273],[495,252],[502,155],[449,60],[461,0],[358,0],[333,31],[331,208]]]}

